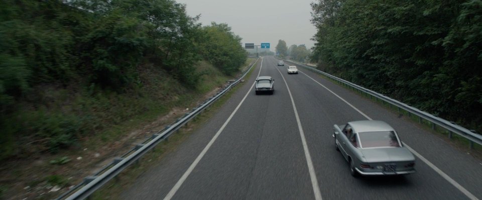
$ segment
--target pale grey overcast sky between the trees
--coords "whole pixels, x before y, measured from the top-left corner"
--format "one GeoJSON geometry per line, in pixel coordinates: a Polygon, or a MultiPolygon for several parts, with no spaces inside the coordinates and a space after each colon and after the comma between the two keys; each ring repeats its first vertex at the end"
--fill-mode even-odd
{"type": "Polygon", "coordinates": [[[226,23],[244,43],[271,43],[275,51],[278,40],[292,44],[314,45],[316,33],[311,24],[310,3],[314,0],[176,0],[186,4],[187,14],[201,14],[199,22],[226,23]]]}

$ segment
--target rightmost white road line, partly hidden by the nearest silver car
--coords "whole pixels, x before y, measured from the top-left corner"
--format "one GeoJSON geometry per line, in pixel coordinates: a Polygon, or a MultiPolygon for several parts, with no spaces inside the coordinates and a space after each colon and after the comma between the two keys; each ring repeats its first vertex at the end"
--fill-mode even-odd
{"type": "MultiPolygon", "coordinates": [[[[300,71],[301,72],[301,71],[300,71]]],[[[303,73],[303,72],[301,72],[303,73]]],[[[306,73],[303,73],[305,74],[306,76],[308,76],[308,74],[306,73]]],[[[319,83],[318,81],[316,81],[315,79],[313,79],[312,77],[308,76],[308,78],[311,78],[311,80],[315,81],[316,83],[318,83],[319,85],[321,85],[322,87],[324,87],[325,89],[327,89],[328,91],[330,91],[332,94],[334,94],[336,97],[338,97],[339,99],[341,99],[341,101],[343,101],[344,103],[346,103],[348,106],[350,106],[351,108],[353,108],[355,111],[357,111],[359,114],[362,114],[363,116],[365,116],[368,120],[373,120],[372,118],[368,117],[368,115],[365,115],[365,113],[363,113],[362,111],[358,110],[357,108],[355,108],[353,105],[351,105],[350,103],[348,103],[347,101],[345,101],[345,99],[343,99],[341,96],[335,94],[333,91],[331,91],[330,89],[328,89],[327,87],[325,87],[323,84],[319,83]]],[[[422,155],[420,155],[417,151],[415,151],[414,149],[412,149],[410,146],[408,146],[407,144],[405,144],[404,142],[402,142],[402,144],[407,147],[407,149],[409,149],[413,154],[415,154],[415,156],[417,156],[420,160],[422,160],[425,164],[427,164],[430,168],[432,168],[435,172],[437,172],[440,176],[442,176],[445,180],[447,180],[450,184],[452,184],[453,186],[455,186],[455,188],[457,188],[458,190],[460,190],[460,192],[464,193],[468,198],[472,199],[472,200],[477,200],[478,198],[475,197],[472,193],[470,193],[467,189],[465,189],[462,185],[460,185],[457,181],[455,181],[454,179],[452,179],[450,176],[448,176],[446,173],[444,173],[442,170],[440,170],[438,167],[436,167],[434,164],[432,164],[432,162],[428,161],[425,157],[423,157],[422,155]]]]}

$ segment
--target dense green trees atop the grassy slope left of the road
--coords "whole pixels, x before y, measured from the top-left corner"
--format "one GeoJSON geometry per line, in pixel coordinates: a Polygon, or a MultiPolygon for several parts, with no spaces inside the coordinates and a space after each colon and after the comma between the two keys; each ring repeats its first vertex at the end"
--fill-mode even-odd
{"type": "MultiPolygon", "coordinates": [[[[152,63],[186,87],[196,87],[207,60],[225,74],[247,59],[226,24],[202,26],[173,0],[2,0],[0,7],[0,146],[24,129],[12,125],[22,104],[56,85],[123,93],[142,86],[152,63]]],[[[41,130],[31,130],[36,134],[41,130]]],[[[67,131],[65,131],[67,132],[67,131]]],[[[78,131],[71,131],[75,132],[78,131]]],[[[22,133],[23,134],[23,133],[22,133]]],[[[54,133],[51,133],[52,135],[54,133]]],[[[48,137],[48,136],[47,136],[48,137]]]]}

